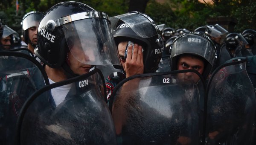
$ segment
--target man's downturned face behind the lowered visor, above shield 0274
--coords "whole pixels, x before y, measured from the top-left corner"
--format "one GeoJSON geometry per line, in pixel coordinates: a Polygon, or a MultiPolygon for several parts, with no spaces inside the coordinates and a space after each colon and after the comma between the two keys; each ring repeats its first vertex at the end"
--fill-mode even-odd
{"type": "Polygon", "coordinates": [[[93,60],[93,51],[87,50],[83,51],[79,45],[74,45],[72,47],[72,53],[69,52],[67,56],[67,63],[73,73],[77,75],[83,75],[90,71],[91,65],[86,64],[89,60],[93,60]],[[79,61],[78,61],[79,60],[79,61]]]}

